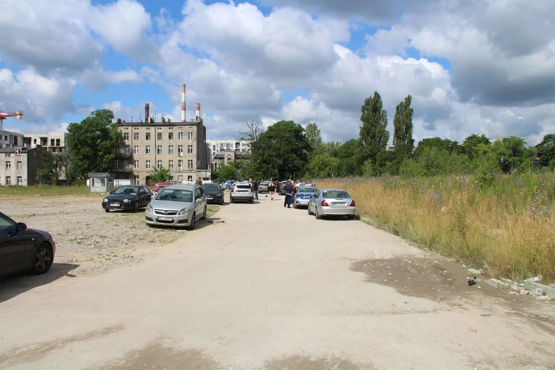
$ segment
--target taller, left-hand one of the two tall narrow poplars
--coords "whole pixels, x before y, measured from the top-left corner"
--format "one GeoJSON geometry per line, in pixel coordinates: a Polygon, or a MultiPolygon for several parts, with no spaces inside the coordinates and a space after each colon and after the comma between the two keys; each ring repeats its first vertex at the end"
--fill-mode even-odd
{"type": "Polygon", "coordinates": [[[374,92],[374,97],[366,98],[360,110],[362,113],[359,138],[361,151],[364,159],[370,161],[367,168],[376,168],[380,154],[386,150],[387,141],[389,141],[387,111],[378,92],[374,92]]]}

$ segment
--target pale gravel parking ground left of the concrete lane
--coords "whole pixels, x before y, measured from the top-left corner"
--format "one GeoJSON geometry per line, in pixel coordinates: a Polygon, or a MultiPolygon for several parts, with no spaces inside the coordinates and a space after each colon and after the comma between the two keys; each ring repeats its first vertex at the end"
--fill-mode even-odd
{"type": "MultiPolygon", "coordinates": [[[[101,194],[0,197],[0,210],[29,228],[48,231],[56,241],[53,269],[73,275],[98,275],[117,266],[141,263],[160,253],[160,247],[189,232],[170,227],[151,228],[144,209],[137,214],[105,213],[101,194]],[[34,213],[33,216],[31,216],[34,213]]],[[[209,205],[210,217],[219,206],[209,205]]],[[[206,221],[197,224],[203,227],[206,221]]]]}

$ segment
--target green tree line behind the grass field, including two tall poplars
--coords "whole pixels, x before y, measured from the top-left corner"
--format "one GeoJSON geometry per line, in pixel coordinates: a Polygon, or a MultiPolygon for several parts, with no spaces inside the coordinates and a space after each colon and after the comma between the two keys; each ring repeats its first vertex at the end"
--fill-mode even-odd
{"type": "Polygon", "coordinates": [[[475,174],[487,181],[499,173],[555,169],[555,134],[528,147],[516,136],[491,140],[483,134],[472,134],[462,143],[426,138],[415,146],[411,103],[408,95],[395,109],[392,150],[387,148],[387,111],[378,92],[361,107],[359,138],[345,143],[324,143],[316,123],[302,128],[294,121],[279,121],[264,130],[250,121],[240,133],[251,144],[250,162],[232,162],[215,175],[231,179],[236,169],[241,169],[244,177],[260,179],[475,174]]]}

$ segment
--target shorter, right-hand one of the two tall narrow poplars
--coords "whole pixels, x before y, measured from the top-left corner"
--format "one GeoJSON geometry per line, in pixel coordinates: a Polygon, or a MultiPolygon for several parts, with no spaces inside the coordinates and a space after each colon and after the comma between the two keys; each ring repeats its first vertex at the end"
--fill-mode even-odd
{"type": "Polygon", "coordinates": [[[415,140],[412,138],[412,97],[408,95],[405,100],[397,105],[395,118],[393,118],[393,146],[395,146],[395,159],[401,163],[403,159],[410,158],[415,149],[415,140]]]}

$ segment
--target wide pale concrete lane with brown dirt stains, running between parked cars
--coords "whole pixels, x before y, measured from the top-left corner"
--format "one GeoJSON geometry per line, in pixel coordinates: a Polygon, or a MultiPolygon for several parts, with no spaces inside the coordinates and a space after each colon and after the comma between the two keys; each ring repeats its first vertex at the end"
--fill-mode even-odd
{"type": "Polygon", "coordinates": [[[0,281],[0,368],[555,368],[551,304],[467,287],[456,263],[279,200],[214,217],[141,265],[0,281]]]}

